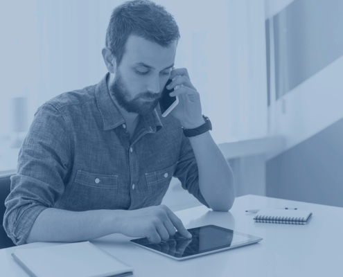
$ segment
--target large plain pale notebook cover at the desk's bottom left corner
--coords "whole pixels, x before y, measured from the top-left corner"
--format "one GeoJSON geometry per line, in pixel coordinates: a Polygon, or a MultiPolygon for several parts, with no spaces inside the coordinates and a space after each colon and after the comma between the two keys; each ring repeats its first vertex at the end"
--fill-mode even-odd
{"type": "Polygon", "coordinates": [[[36,249],[17,249],[15,261],[32,277],[127,276],[133,268],[91,242],[62,244],[36,249]]]}

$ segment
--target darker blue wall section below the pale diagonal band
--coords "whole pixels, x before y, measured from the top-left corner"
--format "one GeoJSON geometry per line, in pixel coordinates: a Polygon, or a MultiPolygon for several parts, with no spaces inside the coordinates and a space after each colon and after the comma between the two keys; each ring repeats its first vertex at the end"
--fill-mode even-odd
{"type": "Polygon", "coordinates": [[[343,119],[266,163],[267,196],[343,207],[343,119]]]}

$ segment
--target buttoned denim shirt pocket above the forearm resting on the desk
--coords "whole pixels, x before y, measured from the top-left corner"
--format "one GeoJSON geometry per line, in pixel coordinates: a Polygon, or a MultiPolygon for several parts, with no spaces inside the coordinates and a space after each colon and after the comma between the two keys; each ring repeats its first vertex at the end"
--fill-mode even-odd
{"type": "Polygon", "coordinates": [[[116,203],[118,175],[78,170],[69,194],[73,211],[111,209],[116,203]]]}

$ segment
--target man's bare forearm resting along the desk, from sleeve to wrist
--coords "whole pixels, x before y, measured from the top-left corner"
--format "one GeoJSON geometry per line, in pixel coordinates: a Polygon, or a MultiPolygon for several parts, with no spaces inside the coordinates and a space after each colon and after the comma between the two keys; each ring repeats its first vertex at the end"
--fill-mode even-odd
{"type": "Polygon", "coordinates": [[[78,242],[119,233],[123,213],[121,210],[73,212],[46,208],[35,220],[26,242],[78,242]]]}

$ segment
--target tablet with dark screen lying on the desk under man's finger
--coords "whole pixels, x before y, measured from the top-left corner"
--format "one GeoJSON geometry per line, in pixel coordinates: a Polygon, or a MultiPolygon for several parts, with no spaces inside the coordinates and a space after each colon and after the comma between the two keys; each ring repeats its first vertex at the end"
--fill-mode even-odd
{"type": "Polygon", "coordinates": [[[147,238],[131,240],[134,244],[160,253],[175,260],[186,260],[210,253],[216,253],[236,247],[243,247],[262,240],[262,238],[247,235],[216,225],[206,225],[188,229],[192,238],[184,238],[179,232],[170,236],[166,242],[154,244],[147,238]]]}

